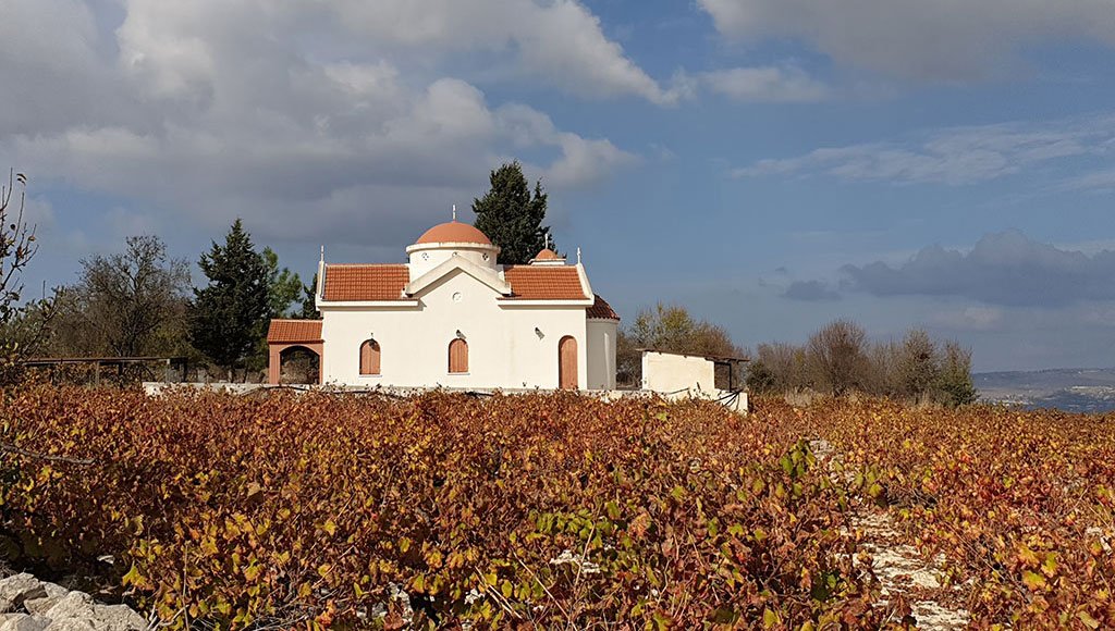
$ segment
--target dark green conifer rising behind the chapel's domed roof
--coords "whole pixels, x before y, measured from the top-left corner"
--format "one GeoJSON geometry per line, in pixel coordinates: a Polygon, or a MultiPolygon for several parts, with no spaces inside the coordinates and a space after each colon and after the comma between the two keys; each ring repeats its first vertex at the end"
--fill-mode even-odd
{"type": "Polygon", "coordinates": [[[546,194],[542,181],[534,184],[534,194],[518,162],[492,171],[492,188],[479,200],[473,200],[476,229],[500,246],[500,261],[523,264],[546,246],[550,227],[546,217],[546,194]]]}

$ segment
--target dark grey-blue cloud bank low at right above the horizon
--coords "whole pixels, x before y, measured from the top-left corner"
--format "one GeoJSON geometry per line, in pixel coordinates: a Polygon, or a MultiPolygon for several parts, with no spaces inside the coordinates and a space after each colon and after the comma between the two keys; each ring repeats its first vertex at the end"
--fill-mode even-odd
{"type": "Polygon", "coordinates": [[[953,295],[1007,307],[1115,300],[1115,251],[1086,254],[1020,232],[987,234],[970,252],[932,245],[901,265],[845,265],[850,288],[889,295],[953,295]]]}

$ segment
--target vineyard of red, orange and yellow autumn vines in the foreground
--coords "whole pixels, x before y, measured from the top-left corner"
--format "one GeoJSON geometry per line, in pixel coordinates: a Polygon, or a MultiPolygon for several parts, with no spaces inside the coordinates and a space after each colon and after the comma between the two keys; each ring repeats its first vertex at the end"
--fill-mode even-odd
{"type": "Polygon", "coordinates": [[[1115,624],[1112,417],[759,400],[744,418],[570,394],[3,397],[9,563],[90,576],[169,627],[913,624],[883,596],[866,514],[942,559],[972,625],[1115,624]]]}

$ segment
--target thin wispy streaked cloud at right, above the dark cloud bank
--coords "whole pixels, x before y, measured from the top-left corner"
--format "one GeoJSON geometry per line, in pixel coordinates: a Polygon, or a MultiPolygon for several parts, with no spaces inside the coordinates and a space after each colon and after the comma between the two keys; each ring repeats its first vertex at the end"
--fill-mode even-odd
{"type": "MultiPolygon", "coordinates": [[[[957,127],[915,142],[824,147],[792,158],[769,158],[737,168],[735,177],[825,175],[849,181],[971,184],[1026,167],[1112,151],[1115,117],[957,127]]],[[[1103,182],[1082,181],[1094,186],[1103,182]]]]}

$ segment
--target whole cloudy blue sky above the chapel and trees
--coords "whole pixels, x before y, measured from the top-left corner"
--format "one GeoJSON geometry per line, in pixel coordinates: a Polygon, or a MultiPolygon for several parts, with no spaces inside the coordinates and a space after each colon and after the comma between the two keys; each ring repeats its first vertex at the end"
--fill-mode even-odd
{"type": "MultiPolygon", "coordinates": [[[[1115,363],[1107,0],[0,0],[27,284],[236,216],[390,262],[518,158],[624,318],[838,317],[977,369],[1115,363]]],[[[468,217],[471,213],[464,212],[468,217]]]]}

